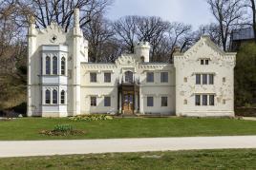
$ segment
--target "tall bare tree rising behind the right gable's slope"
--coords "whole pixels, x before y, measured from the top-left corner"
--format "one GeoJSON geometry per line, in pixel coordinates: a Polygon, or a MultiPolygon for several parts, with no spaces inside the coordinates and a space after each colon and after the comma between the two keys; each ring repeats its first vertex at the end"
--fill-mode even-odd
{"type": "Polygon", "coordinates": [[[242,23],[243,0],[207,0],[207,3],[220,27],[222,45],[226,51],[231,30],[242,23]]]}

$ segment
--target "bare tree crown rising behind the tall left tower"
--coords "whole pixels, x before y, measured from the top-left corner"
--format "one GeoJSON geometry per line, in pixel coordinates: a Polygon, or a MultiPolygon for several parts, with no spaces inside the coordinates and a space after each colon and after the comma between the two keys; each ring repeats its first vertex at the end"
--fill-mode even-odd
{"type": "Polygon", "coordinates": [[[84,27],[111,3],[110,0],[18,0],[21,8],[32,11],[37,27],[46,28],[54,21],[66,31],[73,23],[75,8],[80,9],[80,26],[84,27]]]}

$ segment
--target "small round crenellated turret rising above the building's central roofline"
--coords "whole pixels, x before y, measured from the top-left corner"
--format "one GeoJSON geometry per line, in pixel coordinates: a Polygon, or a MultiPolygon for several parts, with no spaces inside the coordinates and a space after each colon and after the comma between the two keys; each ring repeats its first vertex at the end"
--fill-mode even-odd
{"type": "Polygon", "coordinates": [[[135,47],[137,60],[141,63],[149,63],[150,44],[148,42],[139,42],[135,47]]]}

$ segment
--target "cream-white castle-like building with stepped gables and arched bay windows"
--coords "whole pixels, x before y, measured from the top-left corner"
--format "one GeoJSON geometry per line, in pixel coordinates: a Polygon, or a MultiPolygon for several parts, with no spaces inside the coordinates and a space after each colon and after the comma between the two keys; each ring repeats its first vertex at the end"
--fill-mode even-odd
{"type": "Polygon", "coordinates": [[[148,43],[113,64],[89,63],[75,9],[68,32],[54,23],[39,29],[31,22],[28,47],[28,116],[234,116],[236,53],[224,52],[206,36],[176,53],[174,64],[150,63],[148,43]]]}

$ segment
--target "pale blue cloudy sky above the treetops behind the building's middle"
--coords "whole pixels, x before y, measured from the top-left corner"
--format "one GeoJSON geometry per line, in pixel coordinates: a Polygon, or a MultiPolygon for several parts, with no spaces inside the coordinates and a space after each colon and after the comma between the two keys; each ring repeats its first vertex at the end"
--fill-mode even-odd
{"type": "Polygon", "coordinates": [[[197,29],[214,22],[206,0],[114,0],[108,17],[116,20],[125,15],[160,16],[173,22],[191,24],[197,29]]]}

